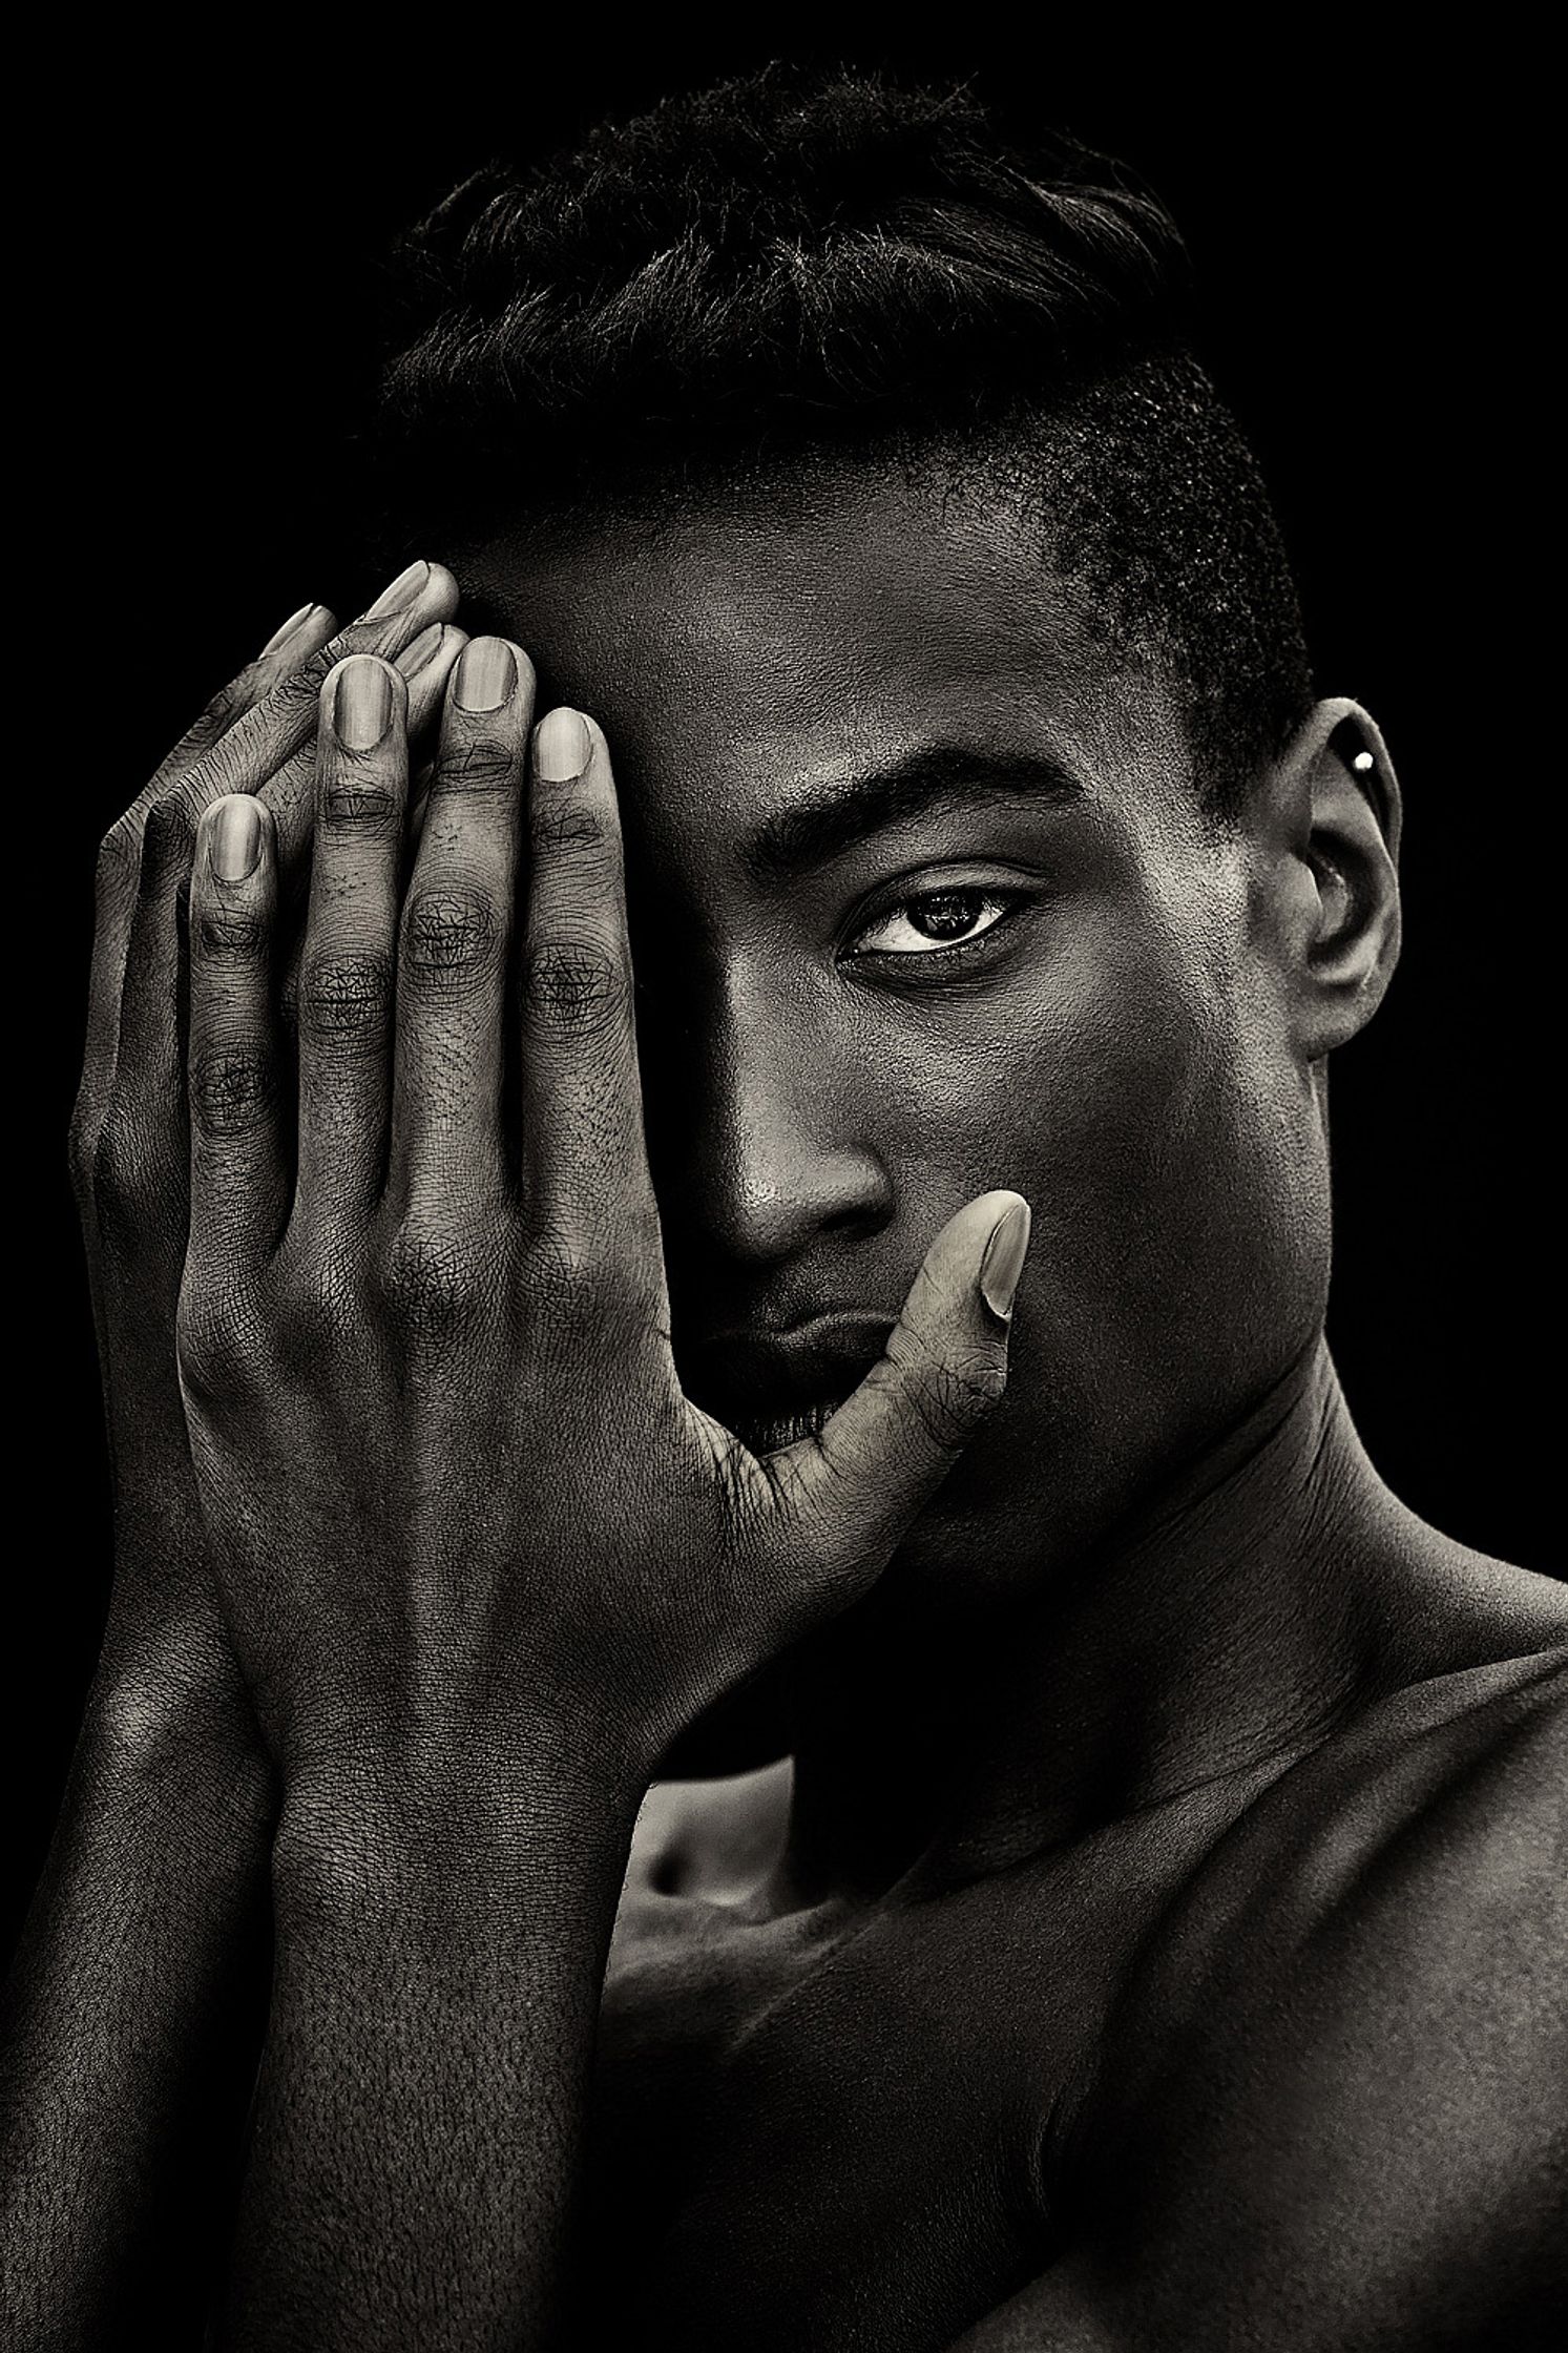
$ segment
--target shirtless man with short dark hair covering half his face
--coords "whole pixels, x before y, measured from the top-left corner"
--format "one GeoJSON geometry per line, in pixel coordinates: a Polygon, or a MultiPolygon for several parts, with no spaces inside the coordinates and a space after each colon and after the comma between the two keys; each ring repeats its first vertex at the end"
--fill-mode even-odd
{"type": "Polygon", "coordinates": [[[1324,1348],[1399,795],[1175,275],[788,75],[416,240],[444,562],[103,856],[24,2341],[1544,2332],[1568,1609],[1324,1348]]]}

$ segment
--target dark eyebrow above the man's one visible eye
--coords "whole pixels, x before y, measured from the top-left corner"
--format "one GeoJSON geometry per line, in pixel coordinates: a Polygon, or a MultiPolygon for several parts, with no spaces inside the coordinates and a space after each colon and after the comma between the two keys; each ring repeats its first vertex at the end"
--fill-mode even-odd
{"type": "Polygon", "coordinates": [[[1084,800],[1084,784],[1048,753],[997,755],[961,744],[929,744],[769,816],[745,847],[745,868],[764,887],[790,882],[886,826],[924,816],[943,802],[971,800],[1063,807],[1084,800]]]}

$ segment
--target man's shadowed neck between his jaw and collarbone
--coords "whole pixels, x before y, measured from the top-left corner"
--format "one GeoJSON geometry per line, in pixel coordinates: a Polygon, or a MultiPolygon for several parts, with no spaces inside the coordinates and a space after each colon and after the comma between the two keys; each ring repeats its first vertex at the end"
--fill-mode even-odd
{"type": "Polygon", "coordinates": [[[1001,1619],[907,1628],[872,1605],[806,1649],[790,1897],[870,1894],[914,1864],[973,1878],[1309,1746],[1422,1671],[1420,1537],[1319,1341],[1001,1619]]]}

